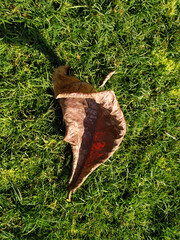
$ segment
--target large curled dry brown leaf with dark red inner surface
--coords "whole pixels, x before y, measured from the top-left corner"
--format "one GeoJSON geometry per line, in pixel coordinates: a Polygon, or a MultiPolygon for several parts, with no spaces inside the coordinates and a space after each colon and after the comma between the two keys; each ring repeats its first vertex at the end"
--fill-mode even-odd
{"type": "Polygon", "coordinates": [[[70,200],[71,193],[116,151],[126,122],[113,91],[96,92],[90,84],[70,76],[69,66],[55,69],[52,80],[66,124],[64,141],[73,152],[70,200]]]}

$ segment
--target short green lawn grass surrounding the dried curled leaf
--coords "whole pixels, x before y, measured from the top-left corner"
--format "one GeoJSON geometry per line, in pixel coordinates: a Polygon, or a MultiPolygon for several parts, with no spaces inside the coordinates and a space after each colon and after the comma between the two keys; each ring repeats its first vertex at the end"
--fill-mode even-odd
{"type": "Polygon", "coordinates": [[[2,0],[0,239],[179,239],[177,0],[2,0]],[[77,58],[79,54],[81,61],[77,58]],[[118,151],[66,201],[54,67],[113,90],[118,151]]]}

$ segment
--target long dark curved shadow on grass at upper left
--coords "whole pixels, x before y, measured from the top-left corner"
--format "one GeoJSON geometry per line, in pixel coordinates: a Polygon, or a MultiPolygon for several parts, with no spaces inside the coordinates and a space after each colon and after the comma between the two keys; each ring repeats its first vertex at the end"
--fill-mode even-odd
{"type": "Polygon", "coordinates": [[[32,23],[28,25],[26,22],[19,21],[19,19],[15,19],[12,23],[4,22],[0,25],[0,37],[2,40],[9,44],[28,45],[30,48],[42,52],[52,66],[58,67],[62,65],[63,63],[47,40],[40,34],[37,27],[32,23]]]}

